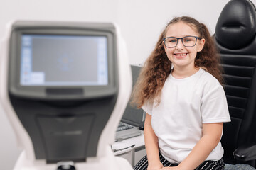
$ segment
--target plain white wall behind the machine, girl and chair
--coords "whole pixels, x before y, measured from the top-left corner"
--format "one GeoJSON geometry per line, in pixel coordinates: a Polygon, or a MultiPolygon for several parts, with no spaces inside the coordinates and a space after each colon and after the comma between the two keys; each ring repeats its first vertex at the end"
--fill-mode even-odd
{"type": "MultiPolygon", "coordinates": [[[[141,64],[171,18],[192,16],[206,23],[213,34],[227,3],[228,0],[0,0],[0,38],[5,24],[16,19],[116,22],[127,42],[130,64],[141,64]]],[[[20,150],[1,108],[0,137],[1,169],[9,170],[20,150]]]]}

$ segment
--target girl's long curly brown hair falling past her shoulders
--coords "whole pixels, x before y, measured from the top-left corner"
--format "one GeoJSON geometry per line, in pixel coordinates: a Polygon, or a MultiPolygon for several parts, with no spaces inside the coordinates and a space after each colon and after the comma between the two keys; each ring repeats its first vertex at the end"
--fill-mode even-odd
{"type": "Polygon", "coordinates": [[[163,39],[166,36],[169,26],[178,22],[186,23],[191,28],[195,28],[199,36],[206,40],[203,50],[197,52],[194,62],[195,67],[205,69],[218,79],[220,84],[223,84],[220,57],[206,25],[188,16],[176,17],[162,31],[153,52],[147,58],[139,74],[132,93],[132,104],[135,104],[137,108],[141,108],[146,101],[153,103],[155,99],[157,104],[160,103],[161,89],[171,73],[171,61],[168,59],[164,50],[163,39]]]}

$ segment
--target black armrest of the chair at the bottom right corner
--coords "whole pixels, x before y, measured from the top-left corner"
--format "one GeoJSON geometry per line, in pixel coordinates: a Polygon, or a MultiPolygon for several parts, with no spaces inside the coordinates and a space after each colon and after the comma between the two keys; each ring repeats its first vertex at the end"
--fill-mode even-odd
{"type": "Polygon", "coordinates": [[[256,159],[256,143],[248,143],[238,147],[233,152],[235,159],[239,161],[250,161],[256,159]]]}

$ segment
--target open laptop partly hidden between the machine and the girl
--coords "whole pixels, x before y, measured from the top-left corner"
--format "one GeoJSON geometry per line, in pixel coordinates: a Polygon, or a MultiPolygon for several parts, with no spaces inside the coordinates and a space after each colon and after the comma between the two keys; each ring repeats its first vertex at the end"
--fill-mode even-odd
{"type": "MultiPolygon", "coordinates": [[[[134,84],[136,83],[141,68],[142,67],[137,65],[131,65],[132,86],[134,86],[134,84]]],[[[143,124],[144,120],[145,113],[143,109],[137,109],[136,107],[133,107],[130,105],[130,103],[128,103],[127,107],[125,108],[124,114],[122,115],[119,126],[117,127],[115,140],[121,141],[130,137],[141,135],[142,132],[141,130],[139,130],[139,126],[143,124]]]]}

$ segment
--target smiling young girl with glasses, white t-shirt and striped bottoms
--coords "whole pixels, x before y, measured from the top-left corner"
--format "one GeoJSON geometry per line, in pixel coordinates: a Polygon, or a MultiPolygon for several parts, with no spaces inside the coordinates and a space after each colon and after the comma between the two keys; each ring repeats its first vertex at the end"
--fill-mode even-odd
{"type": "Polygon", "coordinates": [[[206,26],[187,16],[171,20],[134,89],[147,113],[147,155],[134,169],[224,169],[220,138],[230,116],[222,81],[206,26]]]}

